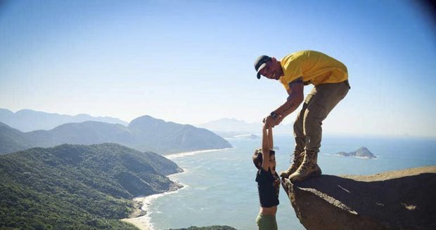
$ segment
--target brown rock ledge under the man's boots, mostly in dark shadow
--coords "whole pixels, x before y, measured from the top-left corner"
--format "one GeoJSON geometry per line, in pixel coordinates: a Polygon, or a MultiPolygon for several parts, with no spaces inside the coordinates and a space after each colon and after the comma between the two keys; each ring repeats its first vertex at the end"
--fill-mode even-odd
{"type": "Polygon", "coordinates": [[[306,229],[436,229],[436,166],[282,185],[306,229]]]}

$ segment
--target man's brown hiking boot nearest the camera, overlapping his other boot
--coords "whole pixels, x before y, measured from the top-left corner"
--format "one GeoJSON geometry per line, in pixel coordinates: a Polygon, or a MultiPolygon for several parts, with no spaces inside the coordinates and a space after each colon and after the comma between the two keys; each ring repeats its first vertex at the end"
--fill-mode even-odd
{"type": "Polygon", "coordinates": [[[309,151],[304,154],[304,159],[297,171],[289,176],[291,182],[300,182],[309,177],[316,177],[321,175],[321,168],[317,164],[318,153],[309,151]]]}

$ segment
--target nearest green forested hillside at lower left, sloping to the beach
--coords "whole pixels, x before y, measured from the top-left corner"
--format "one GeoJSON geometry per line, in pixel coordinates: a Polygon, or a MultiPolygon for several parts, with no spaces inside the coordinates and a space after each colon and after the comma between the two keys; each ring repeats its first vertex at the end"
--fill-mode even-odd
{"type": "Polygon", "coordinates": [[[135,229],[132,198],[179,187],[172,161],[119,144],[63,144],[0,156],[0,229],[135,229]]]}

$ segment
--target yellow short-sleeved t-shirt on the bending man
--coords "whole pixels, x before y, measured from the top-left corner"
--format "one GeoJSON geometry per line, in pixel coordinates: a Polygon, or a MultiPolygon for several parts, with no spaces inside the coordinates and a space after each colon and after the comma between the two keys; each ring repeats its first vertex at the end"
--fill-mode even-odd
{"type": "Polygon", "coordinates": [[[348,79],[347,67],[323,53],[304,50],[291,53],[280,61],[283,76],[278,79],[286,90],[289,83],[302,77],[316,85],[324,83],[339,83],[348,79]]]}

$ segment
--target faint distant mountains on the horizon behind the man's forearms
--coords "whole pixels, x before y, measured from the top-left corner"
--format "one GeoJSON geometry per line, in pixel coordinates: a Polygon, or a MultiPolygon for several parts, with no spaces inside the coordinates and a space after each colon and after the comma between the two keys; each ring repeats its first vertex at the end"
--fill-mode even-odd
{"type": "MultiPolygon", "coordinates": [[[[249,133],[262,133],[263,123],[247,123],[237,119],[219,119],[199,124],[198,127],[207,128],[222,137],[233,137],[249,133]]],[[[293,134],[293,125],[280,124],[274,128],[276,134],[293,134]]]]}

